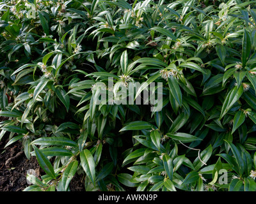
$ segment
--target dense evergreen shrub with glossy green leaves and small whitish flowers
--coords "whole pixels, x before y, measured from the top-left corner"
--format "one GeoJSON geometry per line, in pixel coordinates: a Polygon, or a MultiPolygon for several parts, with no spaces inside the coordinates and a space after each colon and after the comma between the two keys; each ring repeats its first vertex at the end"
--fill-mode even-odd
{"type": "Polygon", "coordinates": [[[24,191],[255,191],[255,3],[1,0],[0,139],[45,172],[24,191]],[[161,82],[163,108],[99,82],[161,82]]]}

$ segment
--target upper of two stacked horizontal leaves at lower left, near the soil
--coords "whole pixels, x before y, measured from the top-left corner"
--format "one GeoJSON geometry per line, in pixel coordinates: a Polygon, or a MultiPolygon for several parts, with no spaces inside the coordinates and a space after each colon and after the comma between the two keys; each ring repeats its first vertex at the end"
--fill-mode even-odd
{"type": "Polygon", "coordinates": [[[61,145],[61,146],[71,146],[71,147],[77,147],[77,143],[64,137],[57,137],[57,136],[51,136],[51,137],[42,137],[34,140],[32,142],[34,145],[61,145]]]}

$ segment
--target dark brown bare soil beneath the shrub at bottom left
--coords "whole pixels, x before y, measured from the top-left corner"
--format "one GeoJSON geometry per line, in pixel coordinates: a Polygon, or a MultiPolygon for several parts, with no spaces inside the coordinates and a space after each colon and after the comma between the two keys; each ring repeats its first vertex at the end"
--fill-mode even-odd
{"type": "MultiPolygon", "coordinates": [[[[0,141],[0,191],[23,191],[29,186],[26,175],[27,171],[35,170],[39,175],[44,175],[36,157],[27,159],[22,143],[17,141],[4,149],[9,140],[6,133],[0,141]]],[[[75,175],[70,182],[70,191],[85,191],[84,183],[81,182],[83,175],[75,175]]]]}

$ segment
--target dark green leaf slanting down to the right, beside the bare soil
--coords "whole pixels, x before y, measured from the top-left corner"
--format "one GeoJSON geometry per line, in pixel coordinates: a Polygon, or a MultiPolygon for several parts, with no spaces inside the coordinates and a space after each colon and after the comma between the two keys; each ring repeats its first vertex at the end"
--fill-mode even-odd
{"type": "Polygon", "coordinates": [[[45,156],[44,153],[42,153],[41,150],[38,149],[35,145],[33,145],[33,149],[35,150],[36,160],[38,161],[38,164],[41,166],[41,168],[52,179],[56,179],[56,175],[55,175],[54,169],[52,167],[51,162],[47,158],[47,156],[45,156]]]}

